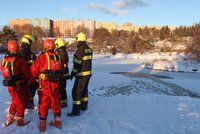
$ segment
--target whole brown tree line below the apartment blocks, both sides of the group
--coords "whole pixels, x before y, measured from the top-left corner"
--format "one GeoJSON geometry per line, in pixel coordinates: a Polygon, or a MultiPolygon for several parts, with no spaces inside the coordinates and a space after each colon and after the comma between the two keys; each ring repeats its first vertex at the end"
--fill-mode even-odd
{"type": "MultiPolygon", "coordinates": [[[[33,44],[33,50],[42,50],[42,38],[45,32],[41,27],[34,27],[29,24],[15,25],[13,27],[16,35],[21,38],[24,34],[31,34],[35,37],[36,42],[33,44]]],[[[84,27],[78,27],[78,32],[88,33],[89,30],[84,27]]],[[[54,33],[57,36],[58,33],[54,33]]],[[[112,51],[123,53],[143,53],[146,51],[154,51],[155,43],[167,40],[173,44],[180,42],[182,38],[192,38],[192,42],[187,45],[186,52],[195,54],[200,57],[200,24],[193,26],[180,26],[171,30],[168,26],[161,29],[156,27],[139,28],[138,31],[113,30],[109,32],[105,28],[95,29],[90,42],[93,49],[97,52],[112,51]]],[[[72,47],[72,49],[74,46],[72,47]]],[[[172,51],[170,46],[166,46],[161,51],[172,51]]],[[[197,58],[198,59],[198,58],[197,58]]]]}

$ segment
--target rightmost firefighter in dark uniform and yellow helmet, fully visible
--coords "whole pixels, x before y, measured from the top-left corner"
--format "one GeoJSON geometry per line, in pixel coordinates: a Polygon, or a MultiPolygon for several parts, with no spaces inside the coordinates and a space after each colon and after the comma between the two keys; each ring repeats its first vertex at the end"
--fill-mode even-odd
{"type": "Polygon", "coordinates": [[[77,50],[74,54],[71,79],[75,77],[72,89],[73,108],[68,116],[79,116],[80,110],[88,108],[88,84],[92,76],[92,49],[86,43],[86,35],[79,33],[76,37],[77,50]]]}

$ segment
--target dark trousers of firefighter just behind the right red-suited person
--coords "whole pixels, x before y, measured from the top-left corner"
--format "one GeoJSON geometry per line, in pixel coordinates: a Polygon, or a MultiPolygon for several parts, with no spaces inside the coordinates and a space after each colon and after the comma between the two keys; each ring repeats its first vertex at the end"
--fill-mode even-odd
{"type": "Polygon", "coordinates": [[[66,91],[66,86],[67,86],[67,80],[63,80],[60,82],[60,95],[61,95],[61,103],[67,102],[67,91],[66,91]]]}

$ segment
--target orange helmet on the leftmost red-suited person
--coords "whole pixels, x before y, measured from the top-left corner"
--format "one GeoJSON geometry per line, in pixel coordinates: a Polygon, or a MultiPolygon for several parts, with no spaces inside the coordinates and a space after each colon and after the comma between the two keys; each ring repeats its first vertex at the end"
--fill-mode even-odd
{"type": "Polygon", "coordinates": [[[10,53],[17,53],[19,51],[19,44],[15,40],[10,40],[7,44],[7,51],[10,53]]]}

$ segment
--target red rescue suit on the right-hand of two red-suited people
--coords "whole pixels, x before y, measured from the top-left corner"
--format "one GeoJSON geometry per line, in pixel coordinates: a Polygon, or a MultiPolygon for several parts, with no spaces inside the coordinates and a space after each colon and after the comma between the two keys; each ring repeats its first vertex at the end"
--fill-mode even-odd
{"type": "Polygon", "coordinates": [[[39,78],[39,117],[42,120],[47,118],[50,108],[55,116],[61,116],[59,81],[50,81],[46,73],[60,71],[61,68],[60,57],[54,52],[40,54],[31,66],[31,73],[39,78]]]}

